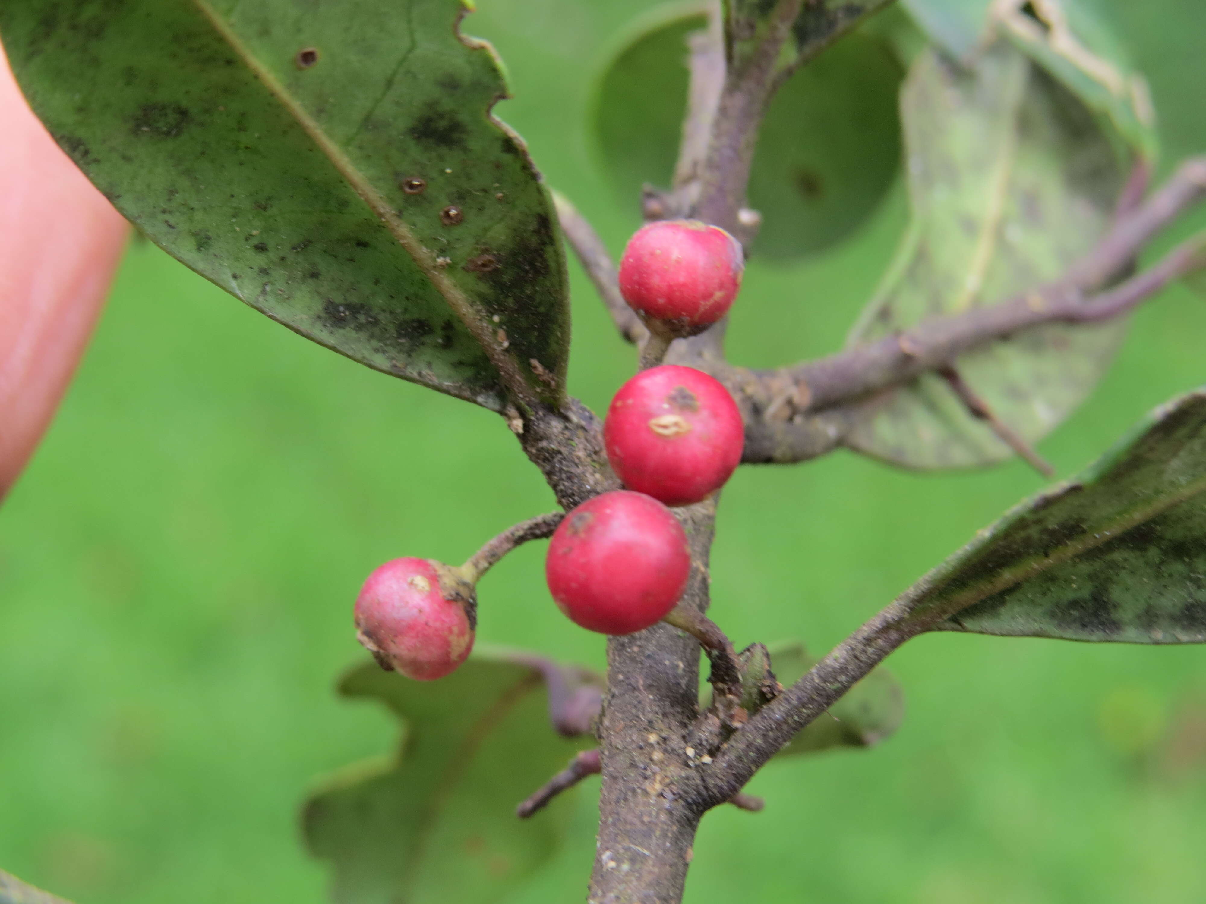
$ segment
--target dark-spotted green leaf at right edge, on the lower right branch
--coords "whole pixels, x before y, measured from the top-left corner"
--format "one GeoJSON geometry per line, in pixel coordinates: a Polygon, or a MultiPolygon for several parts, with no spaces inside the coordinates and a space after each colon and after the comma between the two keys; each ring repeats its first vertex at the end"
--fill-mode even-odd
{"type": "Polygon", "coordinates": [[[1206,388],[1014,506],[904,594],[938,630],[1206,642],[1206,388]]]}

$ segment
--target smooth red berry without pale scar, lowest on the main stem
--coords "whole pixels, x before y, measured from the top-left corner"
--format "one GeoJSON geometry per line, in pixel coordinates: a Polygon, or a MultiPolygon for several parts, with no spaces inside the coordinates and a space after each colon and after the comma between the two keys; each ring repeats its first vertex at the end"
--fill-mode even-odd
{"type": "Polygon", "coordinates": [[[660,622],[686,587],[691,553],[669,509],[617,489],[574,509],[549,544],[544,574],[569,620],[602,634],[660,622]]]}

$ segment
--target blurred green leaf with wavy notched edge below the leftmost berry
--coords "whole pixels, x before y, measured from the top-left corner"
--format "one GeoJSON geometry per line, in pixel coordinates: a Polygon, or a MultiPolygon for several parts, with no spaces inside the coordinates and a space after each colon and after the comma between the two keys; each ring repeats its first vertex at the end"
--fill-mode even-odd
{"type": "Polygon", "coordinates": [[[310,852],[334,870],[336,904],[498,900],[564,833],[558,796],[532,820],[515,806],[580,745],[549,724],[540,673],[479,648],[447,677],[418,682],[365,663],[345,697],[384,703],[404,724],[396,757],[344,770],[306,802],[310,852]]]}

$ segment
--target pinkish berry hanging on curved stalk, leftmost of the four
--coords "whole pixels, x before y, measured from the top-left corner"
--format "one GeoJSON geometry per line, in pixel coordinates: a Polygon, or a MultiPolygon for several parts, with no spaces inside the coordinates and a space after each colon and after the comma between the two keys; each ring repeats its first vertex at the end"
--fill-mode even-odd
{"type": "Polygon", "coordinates": [[[446,598],[441,569],[447,565],[432,559],[392,559],[364,582],[356,598],[356,636],[381,668],[433,681],[469,656],[472,592],[468,601],[446,598]]]}

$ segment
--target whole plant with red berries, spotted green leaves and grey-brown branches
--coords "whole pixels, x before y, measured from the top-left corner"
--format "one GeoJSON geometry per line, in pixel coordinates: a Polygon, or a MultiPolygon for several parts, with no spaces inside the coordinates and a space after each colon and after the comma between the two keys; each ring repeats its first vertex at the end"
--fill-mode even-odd
{"type": "MultiPolygon", "coordinates": [[[[397,757],[305,805],[335,902],[497,900],[550,856],[555,798],[592,774],[589,900],[678,902],[699,821],[761,809],[743,788],[772,757],[896,729],[880,663],[912,638],[1206,641],[1206,389],[1019,503],[820,659],[736,650],[707,616],[738,465],[849,448],[914,469],[1020,456],[1050,476],[1035,442],[1101,378],[1126,315],[1206,264],[1206,234],[1137,263],[1206,194],[1206,158],[1149,187],[1155,111],[1097,6],[724,0],[643,18],[591,113],[645,219],[619,265],[574,187],[550,189],[491,112],[507,87],[470,10],[0,5],[31,106],[142,234],[295,333],[498,413],[563,510],[464,564],[408,556],[364,582],[349,632],[373,659],[340,691],[408,729],[397,757]],[[897,172],[909,222],[845,347],[727,360],[745,262],[849,240],[897,172]],[[605,416],[566,393],[567,248],[619,333],[591,341],[638,352],[605,416]],[[479,580],[539,539],[561,612],[532,617],[609,635],[605,675],[472,652],[491,618],[479,580]]],[[[23,888],[0,874],[0,900],[42,899],[23,888]]]]}

